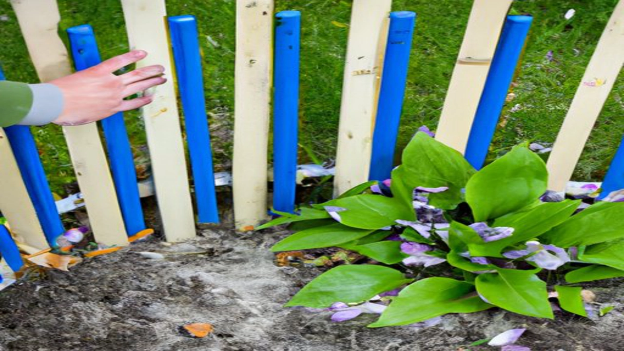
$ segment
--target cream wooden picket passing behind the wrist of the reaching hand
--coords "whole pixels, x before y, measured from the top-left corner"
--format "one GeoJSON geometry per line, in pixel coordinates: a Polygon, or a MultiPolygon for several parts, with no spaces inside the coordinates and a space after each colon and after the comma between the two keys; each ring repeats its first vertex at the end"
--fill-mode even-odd
{"type": "MultiPolygon", "coordinates": [[[[47,82],[71,74],[67,49],[57,34],[61,15],[56,0],[11,3],[39,79],[47,82]]],[[[95,240],[104,245],[127,245],[124,220],[97,124],[63,127],[63,132],[95,240]]]]}

